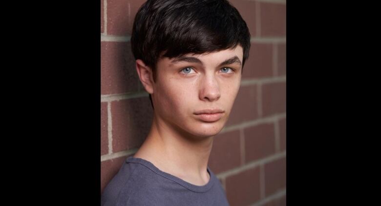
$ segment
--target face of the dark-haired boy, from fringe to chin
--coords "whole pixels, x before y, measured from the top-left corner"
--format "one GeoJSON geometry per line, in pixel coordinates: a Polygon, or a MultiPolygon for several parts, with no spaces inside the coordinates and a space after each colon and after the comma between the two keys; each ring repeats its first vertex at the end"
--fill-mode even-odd
{"type": "Polygon", "coordinates": [[[243,49],[162,58],[152,101],[159,124],[183,134],[210,137],[228,120],[241,81],[243,49]],[[214,114],[211,114],[214,113],[214,114]]]}

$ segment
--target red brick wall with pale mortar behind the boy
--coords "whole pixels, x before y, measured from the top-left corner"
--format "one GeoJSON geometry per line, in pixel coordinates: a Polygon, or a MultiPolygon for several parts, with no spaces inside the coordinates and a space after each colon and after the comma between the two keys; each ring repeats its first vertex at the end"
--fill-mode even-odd
{"type": "MultiPolygon", "coordinates": [[[[130,34],[145,0],[101,0],[101,192],[143,143],[152,119],[130,34]]],[[[231,0],[250,29],[250,57],[209,166],[231,206],[286,205],[286,1],[231,0]]]]}

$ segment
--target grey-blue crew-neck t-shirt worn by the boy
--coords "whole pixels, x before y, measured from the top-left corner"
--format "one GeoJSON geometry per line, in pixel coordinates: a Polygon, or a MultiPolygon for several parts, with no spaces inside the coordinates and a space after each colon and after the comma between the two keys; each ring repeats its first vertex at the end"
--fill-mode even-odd
{"type": "Polygon", "coordinates": [[[102,206],[229,206],[210,170],[206,185],[192,185],[141,158],[128,157],[101,196],[102,206]]]}

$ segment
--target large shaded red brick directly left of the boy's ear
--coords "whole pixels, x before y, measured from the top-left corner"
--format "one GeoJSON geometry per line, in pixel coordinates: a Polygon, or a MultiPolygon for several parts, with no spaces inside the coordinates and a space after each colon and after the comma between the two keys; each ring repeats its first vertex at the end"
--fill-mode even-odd
{"type": "Polygon", "coordinates": [[[138,91],[139,77],[129,42],[101,42],[101,94],[138,91]]]}

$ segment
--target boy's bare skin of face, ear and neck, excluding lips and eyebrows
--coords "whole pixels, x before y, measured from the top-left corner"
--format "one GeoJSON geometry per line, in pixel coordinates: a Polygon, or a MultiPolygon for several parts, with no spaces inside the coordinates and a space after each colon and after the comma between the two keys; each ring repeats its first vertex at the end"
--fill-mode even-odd
{"type": "Polygon", "coordinates": [[[209,181],[207,165],[213,137],[226,124],[238,93],[242,66],[220,65],[237,57],[242,62],[240,45],[206,54],[188,54],[193,61],[159,59],[156,81],[142,60],[136,70],[146,91],[151,94],[154,117],[144,144],[134,157],[146,159],[164,172],[194,185],[209,181]],[[194,112],[221,109],[221,119],[206,122],[194,112]]]}

